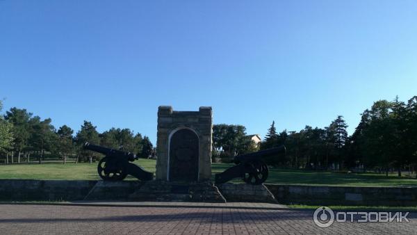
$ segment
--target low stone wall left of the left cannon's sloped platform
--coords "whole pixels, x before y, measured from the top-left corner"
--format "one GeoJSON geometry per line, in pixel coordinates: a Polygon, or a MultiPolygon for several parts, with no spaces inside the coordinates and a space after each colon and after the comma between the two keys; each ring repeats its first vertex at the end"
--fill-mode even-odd
{"type": "Polygon", "coordinates": [[[0,200],[83,200],[96,183],[95,180],[0,179],[0,200]]]}

